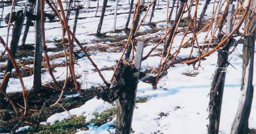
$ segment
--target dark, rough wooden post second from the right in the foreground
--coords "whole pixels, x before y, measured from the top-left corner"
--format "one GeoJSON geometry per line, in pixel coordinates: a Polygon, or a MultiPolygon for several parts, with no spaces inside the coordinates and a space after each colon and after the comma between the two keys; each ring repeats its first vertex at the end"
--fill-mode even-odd
{"type": "MultiPolygon", "coordinates": [[[[233,24],[233,13],[234,13],[234,5],[229,4],[228,8],[228,31],[227,35],[229,35],[232,31],[233,24]]],[[[218,134],[219,126],[220,126],[220,118],[221,118],[221,106],[222,106],[222,98],[224,91],[224,84],[226,79],[226,70],[228,66],[228,55],[229,48],[233,43],[233,38],[229,39],[227,44],[223,46],[221,50],[218,51],[218,59],[217,59],[217,68],[215,70],[215,74],[213,75],[212,87],[210,90],[210,102],[209,102],[209,125],[208,125],[208,134],[218,134]]]]}

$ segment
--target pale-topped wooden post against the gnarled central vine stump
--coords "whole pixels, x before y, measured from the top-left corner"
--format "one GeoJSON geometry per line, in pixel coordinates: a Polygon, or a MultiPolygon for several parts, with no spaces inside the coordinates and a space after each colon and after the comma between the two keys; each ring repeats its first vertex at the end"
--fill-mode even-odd
{"type": "Polygon", "coordinates": [[[122,96],[116,100],[117,103],[117,123],[116,133],[129,134],[132,126],[133,109],[135,104],[135,98],[137,93],[137,85],[139,79],[140,65],[142,62],[144,42],[139,41],[137,45],[137,52],[134,58],[134,68],[137,70],[133,73],[133,77],[129,80],[132,84],[126,85],[126,91],[122,93],[122,96]]]}

